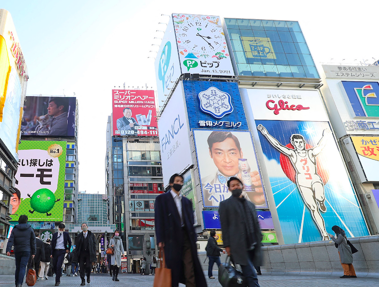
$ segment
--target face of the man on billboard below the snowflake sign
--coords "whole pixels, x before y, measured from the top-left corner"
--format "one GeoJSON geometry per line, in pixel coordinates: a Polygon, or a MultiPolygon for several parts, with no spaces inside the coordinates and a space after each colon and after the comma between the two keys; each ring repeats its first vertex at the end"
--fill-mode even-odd
{"type": "Polygon", "coordinates": [[[225,176],[238,173],[238,158],[243,158],[242,150],[239,152],[233,139],[227,138],[224,142],[215,143],[209,151],[213,162],[225,176]]]}

